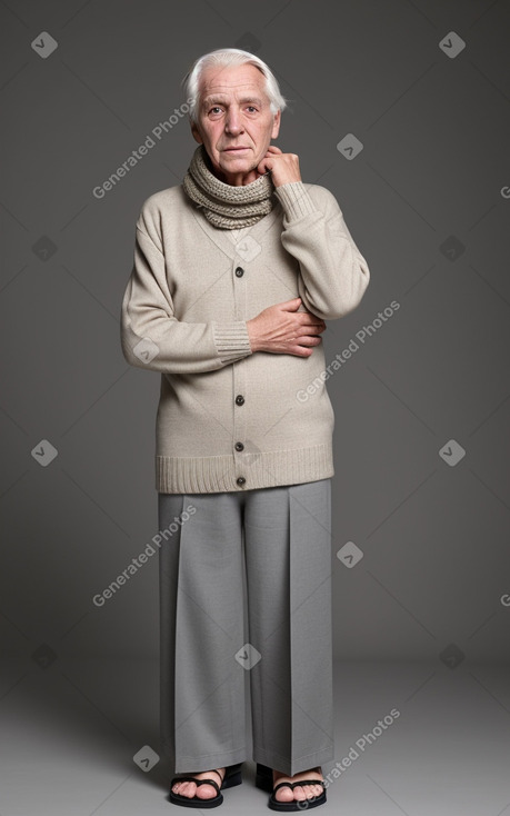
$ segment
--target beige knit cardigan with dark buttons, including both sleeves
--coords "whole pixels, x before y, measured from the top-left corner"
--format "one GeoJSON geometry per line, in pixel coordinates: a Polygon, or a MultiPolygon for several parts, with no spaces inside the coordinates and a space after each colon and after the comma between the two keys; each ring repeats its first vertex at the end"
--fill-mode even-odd
{"type": "Polygon", "coordinates": [[[310,357],[252,352],[247,320],[298,296],[301,311],[336,320],[358,306],[370,272],[329,190],[299,181],[276,188],[274,199],[237,245],[181,186],[142,206],[121,346],[129,364],[161,374],[160,492],[334,475],[322,342],[310,357]]]}

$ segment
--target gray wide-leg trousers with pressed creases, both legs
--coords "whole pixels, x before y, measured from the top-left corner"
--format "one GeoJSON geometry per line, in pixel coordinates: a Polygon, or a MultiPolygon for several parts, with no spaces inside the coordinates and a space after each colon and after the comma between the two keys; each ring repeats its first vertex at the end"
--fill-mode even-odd
{"type": "Polygon", "coordinates": [[[173,772],[251,754],[293,776],[332,760],[331,479],[160,492],[158,514],[161,742],[173,772]]]}

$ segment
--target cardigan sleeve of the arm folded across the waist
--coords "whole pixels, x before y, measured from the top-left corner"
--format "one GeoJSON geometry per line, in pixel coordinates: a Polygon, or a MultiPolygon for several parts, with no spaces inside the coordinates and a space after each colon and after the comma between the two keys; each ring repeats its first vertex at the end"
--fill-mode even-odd
{"type": "Polygon", "coordinates": [[[137,225],[134,263],[120,320],[127,361],[161,374],[200,374],[252,354],[244,320],[187,324],[173,311],[164,256],[137,225]]]}

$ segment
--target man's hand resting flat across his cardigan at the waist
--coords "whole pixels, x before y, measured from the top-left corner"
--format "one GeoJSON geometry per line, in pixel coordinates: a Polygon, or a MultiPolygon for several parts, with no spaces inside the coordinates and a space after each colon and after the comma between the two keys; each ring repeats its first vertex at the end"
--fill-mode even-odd
{"type": "Polygon", "coordinates": [[[310,357],[324,331],[324,321],[310,311],[298,311],[301,298],[269,306],[247,321],[252,351],[310,357]]]}

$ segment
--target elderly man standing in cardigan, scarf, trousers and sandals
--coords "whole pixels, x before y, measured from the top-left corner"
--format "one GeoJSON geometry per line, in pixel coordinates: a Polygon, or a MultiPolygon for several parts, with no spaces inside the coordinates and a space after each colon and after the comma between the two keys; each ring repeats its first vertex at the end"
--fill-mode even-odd
{"type": "Polygon", "coordinates": [[[161,730],[170,800],[221,804],[248,758],[277,810],[322,804],[333,759],[331,477],[324,320],[369,269],[326,188],[271,145],[286,100],[256,56],[184,78],[199,143],[144,201],[121,314],[157,416],[161,730]],[[247,623],[244,629],[244,600],[247,623]]]}

